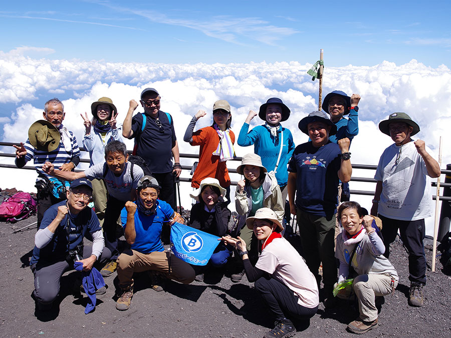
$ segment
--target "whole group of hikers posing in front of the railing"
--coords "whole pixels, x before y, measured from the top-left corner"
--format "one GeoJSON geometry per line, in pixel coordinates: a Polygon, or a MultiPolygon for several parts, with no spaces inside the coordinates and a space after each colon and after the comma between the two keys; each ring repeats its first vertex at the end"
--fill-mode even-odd
{"type": "MultiPolygon", "coordinates": [[[[398,283],[388,260],[398,230],[409,252],[408,303],[421,306],[424,218],[432,214],[429,177],[438,177],[440,168],[424,141],[411,138],[419,126],[405,113],[392,113],[379,124],[394,143],[380,157],[370,214],[349,201],[349,150],[358,134],[359,101],[358,94],[329,93],[321,111],[300,119],[298,127],[309,141],[297,146],[292,131],[281,124],[290,118],[290,109],[279,98],[267,100],[258,113],[249,112],[238,140],[227,101],[213,104],[211,126],[194,131],[198,119],[207,115],[199,110],[183,137],[200,146],[191,180],[193,205],[185,219],[175,207],[173,180],[181,165],[174,119],[160,110],[156,89],[142,91],[143,113],[133,115],[138,103],[130,101],[122,126],[107,97],[92,103],[92,117],[81,114],[83,145],[91,160],[89,169],[78,172],[80,150],[63,124],[64,105],[49,100],[43,120],[33,123],[25,144],[15,146],[16,165],[33,159],[38,171],[38,231],[30,261],[38,308],[52,308],[61,276],[77,264],[85,277],[99,273],[93,267],[103,277],[117,271],[116,308],[127,310],[135,272],[149,271],[152,288],[160,291],[165,278],[200,282],[204,273],[231,262],[232,281],[246,274],[274,315],[275,327],[265,337],[294,335],[294,322],[308,321],[320,301],[325,308],[336,307],[337,298],[356,299],[360,315],[347,328],[364,333],[378,325],[376,303],[398,283]],[[264,124],[249,130],[257,115],[264,124]],[[134,138],[133,155],[123,138],[134,138]],[[236,141],[254,145],[254,152],[242,156],[237,172],[244,178],[231,197],[226,163],[236,157],[236,141]],[[287,197],[299,226],[300,252],[284,238],[287,197]],[[94,210],[88,207],[91,201],[94,210]],[[238,213],[235,221],[231,202],[238,213]],[[175,222],[218,238],[206,265],[191,265],[164,249],[163,226],[175,222]],[[118,246],[122,235],[125,248],[118,246]],[[84,237],[92,246],[83,244],[84,237]]],[[[104,284],[97,286],[96,294],[106,292],[104,284]]]]}

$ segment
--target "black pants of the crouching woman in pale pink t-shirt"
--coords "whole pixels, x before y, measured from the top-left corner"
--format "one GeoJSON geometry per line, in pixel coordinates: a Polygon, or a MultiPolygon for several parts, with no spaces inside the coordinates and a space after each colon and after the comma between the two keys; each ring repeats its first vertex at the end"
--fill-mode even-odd
{"type": "Polygon", "coordinates": [[[297,320],[310,319],[318,310],[318,306],[308,308],[299,305],[299,298],[293,291],[275,278],[260,277],[255,281],[255,289],[259,291],[277,321],[288,317],[297,320]]]}

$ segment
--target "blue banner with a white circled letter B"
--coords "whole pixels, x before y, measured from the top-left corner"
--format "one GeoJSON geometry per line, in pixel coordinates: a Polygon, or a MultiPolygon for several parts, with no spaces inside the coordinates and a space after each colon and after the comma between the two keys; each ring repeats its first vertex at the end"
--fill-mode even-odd
{"type": "Polygon", "coordinates": [[[172,252],[193,265],[206,265],[219,244],[218,237],[180,223],[171,226],[172,252]]]}

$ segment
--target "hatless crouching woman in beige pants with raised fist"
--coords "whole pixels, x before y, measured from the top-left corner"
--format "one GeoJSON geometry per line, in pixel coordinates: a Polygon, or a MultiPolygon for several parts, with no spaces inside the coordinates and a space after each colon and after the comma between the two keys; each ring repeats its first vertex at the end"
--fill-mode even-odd
{"type": "Polygon", "coordinates": [[[372,226],[373,222],[376,226],[375,218],[364,215],[363,210],[357,202],[340,205],[338,218],[343,231],[335,249],[335,257],[340,260],[338,283],[355,276],[352,289],[359,300],[360,317],[348,325],[348,330],[358,334],[377,326],[375,296],[391,293],[398,284],[395,268],[382,256],[385,246],[372,226]]]}

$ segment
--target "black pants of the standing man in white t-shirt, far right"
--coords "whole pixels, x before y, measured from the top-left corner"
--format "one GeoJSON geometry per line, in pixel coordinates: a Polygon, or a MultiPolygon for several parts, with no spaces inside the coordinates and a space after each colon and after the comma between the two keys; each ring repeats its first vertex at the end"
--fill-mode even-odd
{"type": "Polygon", "coordinates": [[[426,284],[426,256],[424,254],[423,239],[425,236],[424,218],[416,221],[400,221],[379,215],[382,220],[382,236],[384,238],[385,253],[390,255],[390,243],[396,234],[401,235],[401,240],[409,252],[409,280],[426,284]]]}

